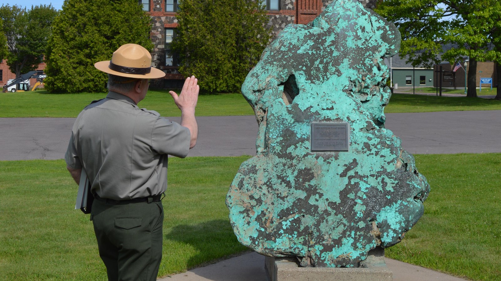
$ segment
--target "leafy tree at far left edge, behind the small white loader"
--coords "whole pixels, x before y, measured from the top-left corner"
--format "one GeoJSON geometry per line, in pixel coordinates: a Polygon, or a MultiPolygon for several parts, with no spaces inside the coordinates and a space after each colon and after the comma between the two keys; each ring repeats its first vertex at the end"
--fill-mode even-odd
{"type": "Polygon", "coordinates": [[[52,20],[57,10],[52,5],[0,7],[3,32],[7,38],[7,65],[16,76],[37,69],[43,61],[52,20]]]}

